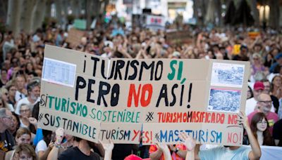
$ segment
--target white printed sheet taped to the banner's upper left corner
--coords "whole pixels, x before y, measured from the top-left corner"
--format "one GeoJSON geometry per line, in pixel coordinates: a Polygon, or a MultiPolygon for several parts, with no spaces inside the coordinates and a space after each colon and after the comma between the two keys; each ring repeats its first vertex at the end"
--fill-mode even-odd
{"type": "Polygon", "coordinates": [[[44,58],[42,70],[42,80],[64,86],[74,86],[76,65],[51,58],[44,58]]]}

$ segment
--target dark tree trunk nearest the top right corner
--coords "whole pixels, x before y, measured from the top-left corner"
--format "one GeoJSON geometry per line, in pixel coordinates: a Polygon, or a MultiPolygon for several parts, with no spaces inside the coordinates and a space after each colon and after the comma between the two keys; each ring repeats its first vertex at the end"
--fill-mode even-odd
{"type": "Polygon", "coordinates": [[[279,27],[279,18],[280,18],[280,11],[279,11],[279,1],[277,0],[270,0],[269,1],[269,26],[273,27],[274,29],[278,29],[279,27]]]}

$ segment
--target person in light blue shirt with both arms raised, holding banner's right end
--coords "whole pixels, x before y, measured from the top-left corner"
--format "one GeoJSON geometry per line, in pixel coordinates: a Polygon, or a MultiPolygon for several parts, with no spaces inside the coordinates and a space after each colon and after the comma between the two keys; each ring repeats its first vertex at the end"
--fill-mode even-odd
{"type": "Polygon", "coordinates": [[[238,124],[243,125],[250,140],[251,148],[238,146],[219,146],[212,149],[201,150],[200,145],[195,145],[194,140],[186,133],[181,133],[179,138],[188,147],[186,159],[260,159],[262,151],[259,142],[252,133],[247,116],[240,112],[238,114],[238,124]]]}

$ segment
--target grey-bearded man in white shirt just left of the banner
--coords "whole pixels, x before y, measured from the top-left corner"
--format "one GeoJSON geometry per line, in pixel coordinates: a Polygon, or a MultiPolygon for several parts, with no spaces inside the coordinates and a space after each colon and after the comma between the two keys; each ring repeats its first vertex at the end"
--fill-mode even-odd
{"type": "Polygon", "coordinates": [[[40,101],[40,84],[37,81],[31,81],[27,84],[27,97],[18,101],[16,106],[16,114],[20,115],[20,105],[30,105],[32,111],[34,105],[40,101]]]}

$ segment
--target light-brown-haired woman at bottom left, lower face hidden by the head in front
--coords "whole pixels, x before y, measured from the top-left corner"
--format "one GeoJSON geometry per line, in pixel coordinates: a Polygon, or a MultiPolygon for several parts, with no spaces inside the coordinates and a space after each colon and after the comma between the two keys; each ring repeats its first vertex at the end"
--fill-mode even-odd
{"type": "MultiPolygon", "coordinates": [[[[21,145],[21,144],[28,144],[30,145],[31,142],[31,133],[27,128],[19,128],[17,133],[16,133],[16,145],[21,145]]],[[[6,153],[5,159],[10,160],[11,157],[13,156],[15,150],[11,150],[6,153]]]]}

